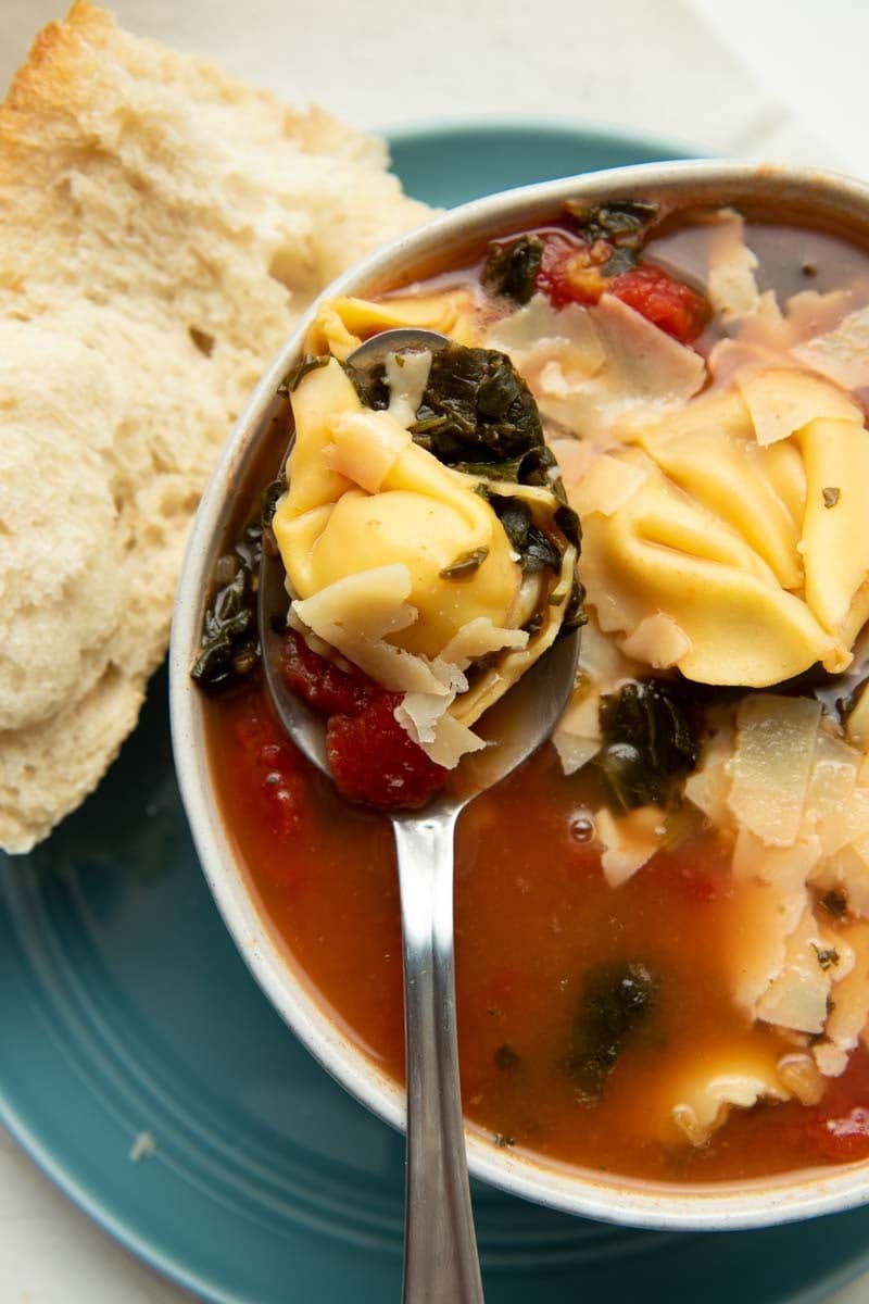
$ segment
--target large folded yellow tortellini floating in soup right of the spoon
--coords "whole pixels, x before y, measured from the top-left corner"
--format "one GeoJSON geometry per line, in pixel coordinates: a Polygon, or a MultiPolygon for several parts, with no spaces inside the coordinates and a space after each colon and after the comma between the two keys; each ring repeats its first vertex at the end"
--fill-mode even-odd
{"type": "Polygon", "coordinates": [[[605,455],[598,502],[594,463],[580,489],[601,627],[631,635],[663,614],[684,639],[662,664],[710,685],[763,687],[818,661],[844,670],[869,617],[862,413],[797,370],[754,376],[752,395],[694,399],[605,455]],[[774,442],[758,442],[760,413],[778,422],[774,442]]]}

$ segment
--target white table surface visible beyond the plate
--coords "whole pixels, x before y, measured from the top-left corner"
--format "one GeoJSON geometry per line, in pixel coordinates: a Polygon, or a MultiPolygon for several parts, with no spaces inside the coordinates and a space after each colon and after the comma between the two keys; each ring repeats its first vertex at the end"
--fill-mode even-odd
{"type": "MultiPolygon", "coordinates": [[[[869,177],[865,0],[115,0],[130,31],[219,59],[294,103],[361,126],[442,116],[564,116],[710,154],[869,177]],[[337,21],[336,21],[337,16],[337,21]],[[420,59],[420,51],[435,51],[420,59]],[[438,57],[436,52],[448,52],[438,57]],[[388,77],[371,69],[388,65],[388,77]],[[677,76],[674,76],[677,69],[677,76]]],[[[3,0],[0,82],[63,0],[3,0]]],[[[0,1128],[3,1304],[181,1304],[59,1194],[0,1128]]],[[[869,1304],[869,1275],[829,1304],[869,1304]]]]}

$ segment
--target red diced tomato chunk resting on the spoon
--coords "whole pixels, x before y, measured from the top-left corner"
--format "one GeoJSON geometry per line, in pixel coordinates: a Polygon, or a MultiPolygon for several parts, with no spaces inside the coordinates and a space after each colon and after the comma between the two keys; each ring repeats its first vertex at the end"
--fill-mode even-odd
{"type": "Polygon", "coordinates": [[[447,771],[429,760],[395,719],[400,700],[400,694],[380,690],[358,715],[330,717],[326,751],[345,797],[410,810],[443,788],[447,771]]]}

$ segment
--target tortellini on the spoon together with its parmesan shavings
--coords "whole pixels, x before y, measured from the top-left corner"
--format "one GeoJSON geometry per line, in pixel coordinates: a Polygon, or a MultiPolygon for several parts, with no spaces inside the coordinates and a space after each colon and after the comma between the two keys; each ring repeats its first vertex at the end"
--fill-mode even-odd
{"type": "Polygon", "coordinates": [[[433,760],[455,765],[483,746],[470,725],[558,634],[576,548],[555,524],[562,505],[551,489],[485,480],[414,443],[406,425],[430,355],[401,363],[417,373],[417,393],[392,359],[382,411],[362,404],[334,356],[301,379],[272,529],[291,622],[403,692],[396,719],[433,760]],[[522,502],[555,540],[555,567],[522,565],[494,497],[522,502]]]}

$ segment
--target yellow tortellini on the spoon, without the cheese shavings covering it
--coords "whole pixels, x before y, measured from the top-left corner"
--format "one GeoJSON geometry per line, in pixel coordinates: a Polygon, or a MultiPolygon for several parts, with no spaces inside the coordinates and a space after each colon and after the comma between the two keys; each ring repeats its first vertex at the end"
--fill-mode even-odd
{"type": "Polygon", "coordinates": [[[408,567],[418,618],[391,642],[438,656],[477,617],[516,627],[521,571],[491,507],[413,443],[386,412],[366,411],[336,361],[293,395],[296,446],[274,529],[296,596],[395,562],[408,567]],[[468,579],[444,578],[463,558],[468,579]]]}

